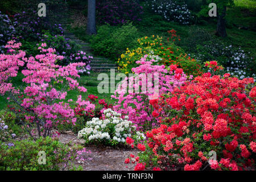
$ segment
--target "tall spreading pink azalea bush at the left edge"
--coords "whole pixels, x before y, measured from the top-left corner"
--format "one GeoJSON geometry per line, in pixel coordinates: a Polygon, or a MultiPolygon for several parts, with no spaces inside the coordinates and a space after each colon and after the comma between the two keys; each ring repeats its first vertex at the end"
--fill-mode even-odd
{"type": "MultiPolygon", "coordinates": [[[[26,53],[19,50],[20,43],[14,40],[8,42],[9,54],[0,55],[0,94],[7,96],[7,100],[14,103],[15,111],[24,114],[24,128],[30,133],[32,127],[36,127],[38,136],[51,135],[51,129],[63,122],[75,125],[76,117],[72,100],[65,103],[67,91],[78,89],[86,92],[83,86],[79,86],[76,78],[79,78],[77,67],[85,63],[71,63],[65,67],[56,65],[57,60],[63,56],[55,55],[55,49],[45,48],[42,43],[39,47],[40,55],[26,58],[26,53]],[[12,78],[23,67],[23,88],[15,88],[12,78]]],[[[94,109],[89,101],[82,100],[78,96],[76,104],[86,106],[86,110],[94,109]]],[[[31,134],[31,133],[30,133],[31,134]]]]}

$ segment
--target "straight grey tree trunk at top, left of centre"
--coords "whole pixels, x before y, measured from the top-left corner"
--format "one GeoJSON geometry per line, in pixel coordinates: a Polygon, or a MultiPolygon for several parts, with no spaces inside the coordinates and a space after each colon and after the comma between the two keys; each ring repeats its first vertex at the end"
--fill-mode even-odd
{"type": "Polygon", "coordinates": [[[96,0],[88,0],[87,34],[96,34],[96,0]]]}

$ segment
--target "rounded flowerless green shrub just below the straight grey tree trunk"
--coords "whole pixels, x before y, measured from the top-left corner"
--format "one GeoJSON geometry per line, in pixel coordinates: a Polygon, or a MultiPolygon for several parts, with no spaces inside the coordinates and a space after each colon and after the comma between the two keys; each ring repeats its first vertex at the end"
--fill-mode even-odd
{"type": "Polygon", "coordinates": [[[107,24],[98,28],[98,33],[93,36],[91,42],[94,53],[115,59],[127,47],[134,47],[137,38],[138,31],[132,23],[121,27],[111,27],[107,24]]]}

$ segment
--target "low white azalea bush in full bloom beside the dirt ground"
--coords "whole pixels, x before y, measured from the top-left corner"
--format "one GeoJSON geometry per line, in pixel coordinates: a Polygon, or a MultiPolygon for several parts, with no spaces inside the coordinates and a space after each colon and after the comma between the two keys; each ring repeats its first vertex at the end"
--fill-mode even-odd
{"type": "Polygon", "coordinates": [[[112,146],[125,144],[127,137],[133,138],[135,142],[146,139],[128,119],[128,116],[122,118],[120,113],[106,109],[104,119],[93,118],[86,122],[85,128],[79,131],[78,138],[84,139],[86,144],[102,143],[112,146]]]}

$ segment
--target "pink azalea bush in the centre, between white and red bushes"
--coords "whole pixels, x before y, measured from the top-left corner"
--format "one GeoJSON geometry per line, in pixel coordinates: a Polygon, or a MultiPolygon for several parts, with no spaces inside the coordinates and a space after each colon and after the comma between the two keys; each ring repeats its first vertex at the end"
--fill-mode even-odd
{"type": "MultiPolygon", "coordinates": [[[[135,77],[139,78],[143,75],[147,76],[147,89],[140,90],[140,92],[128,92],[127,84],[128,80],[132,77],[126,77],[122,84],[118,85],[118,89],[115,90],[112,98],[116,99],[117,102],[113,106],[114,110],[118,113],[129,115],[130,121],[132,121],[137,129],[147,129],[156,124],[156,119],[154,115],[158,114],[153,111],[153,107],[150,102],[154,102],[158,99],[158,96],[167,92],[171,92],[175,87],[179,87],[184,84],[187,80],[187,76],[184,74],[182,69],[175,69],[176,65],[171,65],[170,68],[165,68],[164,65],[152,65],[155,60],[148,59],[148,55],[144,55],[141,60],[137,61],[138,67],[132,69],[136,74],[135,77]],[[151,74],[151,75],[150,75],[151,74]],[[154,88],[154,77],[158,75],[158,92],[156,92],[156,87],[154,88]],[[148,80],[152,79],[152,82],[148,80]],[[152,89],[148,89],[152,88],[152,89]]],[[[191,76],[192,77],[192,76],[191,76]]],[[[142,80],[139,79],[133,84],[134,90],[137,88],[142,88],[142,80]]],[[[130,81],[129,81],[130,82],[130,81]]]]}

